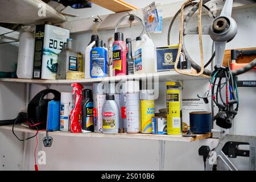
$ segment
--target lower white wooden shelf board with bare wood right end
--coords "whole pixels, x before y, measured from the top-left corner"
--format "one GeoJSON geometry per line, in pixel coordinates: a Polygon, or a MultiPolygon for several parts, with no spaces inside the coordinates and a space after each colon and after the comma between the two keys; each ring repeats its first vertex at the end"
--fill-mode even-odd
{"type": "MultiPolygon", "coordinates": [[[[13,125],[0,126],[0,129],[12,130],[13,125]]],[[[36,133],[36,130],[31,130],[20,124],[15,125],[15,131],[26,133],[36,133]]],[[[45,134],[46,131],[39,131],[39,134],[45,134]]],[[[91,137],[91,138],[122,138],[122,139],[147,139],[147,140],[166,140],[174,142],[193,142],[195,140],[206,139],[212,136],[211,133],[197,135],[197,137],[182,137],[181,135],[153,135],[153,134],[103,134],[103,133],[70,133],[69,131],[50,131],[49,136],[63,137],[91,137]]]]}

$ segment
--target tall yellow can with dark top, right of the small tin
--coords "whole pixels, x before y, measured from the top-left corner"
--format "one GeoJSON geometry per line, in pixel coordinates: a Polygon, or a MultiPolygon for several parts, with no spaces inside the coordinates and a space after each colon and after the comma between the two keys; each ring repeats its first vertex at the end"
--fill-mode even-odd
{"type": "Polygon", "coordinates": [[[181,122],[181,82],[166,82],[167,135],[180,135],[181,122]]]}

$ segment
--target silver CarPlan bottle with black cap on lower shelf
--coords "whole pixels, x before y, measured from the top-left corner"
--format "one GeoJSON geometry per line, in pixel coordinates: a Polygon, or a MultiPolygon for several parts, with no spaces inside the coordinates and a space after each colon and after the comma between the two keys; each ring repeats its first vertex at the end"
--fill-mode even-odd
{"type": "Polygon", "coordinates": [[[114,95],[107,95],[102,107],[102,133],[118,133],[120,126],[119,107],[114,95]]]}

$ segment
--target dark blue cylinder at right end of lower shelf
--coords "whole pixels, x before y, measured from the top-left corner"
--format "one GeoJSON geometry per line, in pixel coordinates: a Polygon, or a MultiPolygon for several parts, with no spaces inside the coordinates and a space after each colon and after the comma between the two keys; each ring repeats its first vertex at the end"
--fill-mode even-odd
{"type": "Polygon", "coordinates": [[[210,133],[212,130],[212,115],[209,112],[197,111],[189,113],[190,130],[194,134],[210,133]]]}

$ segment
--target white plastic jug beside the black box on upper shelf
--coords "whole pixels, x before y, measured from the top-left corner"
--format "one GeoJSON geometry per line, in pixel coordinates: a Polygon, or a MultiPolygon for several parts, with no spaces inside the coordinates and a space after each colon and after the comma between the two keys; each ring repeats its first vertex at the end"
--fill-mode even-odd
{"type": "Polygon", "coordinates": [[[146,34],[136,41],[134,58],[134,74],[155,72],[156,50],[146,34]]]}

